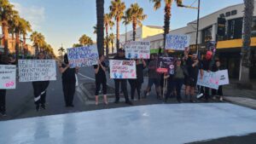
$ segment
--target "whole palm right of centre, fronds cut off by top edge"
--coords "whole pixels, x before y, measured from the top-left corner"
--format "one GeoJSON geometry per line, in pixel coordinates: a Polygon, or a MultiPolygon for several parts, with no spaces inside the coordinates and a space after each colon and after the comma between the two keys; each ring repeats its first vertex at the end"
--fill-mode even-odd
{"type": "MultiPolygon", "coordinates": [[[[162,0],[149,0],[154,3],[154,10],[160,9],[162,0]]],[[[165,25],[164,25],[164,51],[166,49],[166,34],[170,31],[170,19],[171,19],[171,9],[173,0],[163,0],[166,4],[165,6],[165,25]]],[[[175,0],[177,5],[182,5],[182,0],[175,0]]]]}

